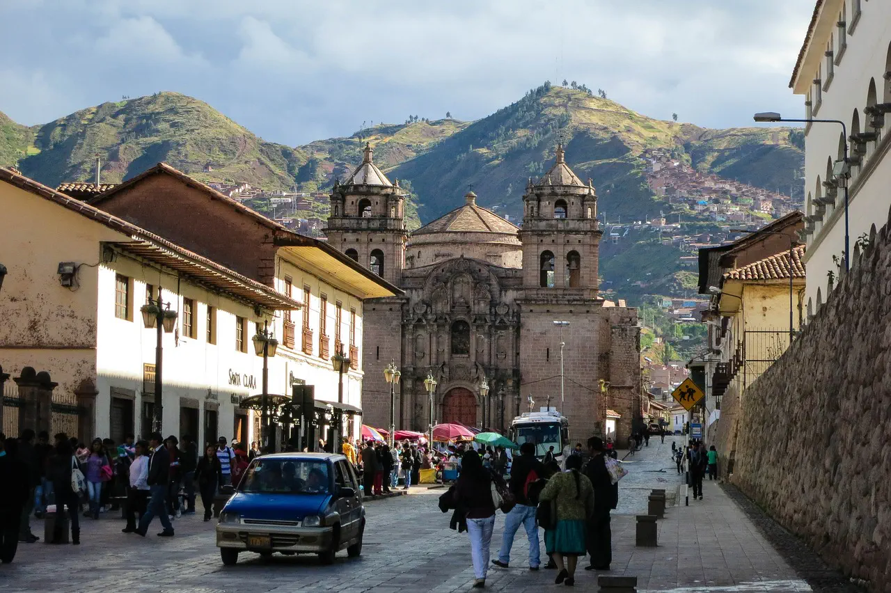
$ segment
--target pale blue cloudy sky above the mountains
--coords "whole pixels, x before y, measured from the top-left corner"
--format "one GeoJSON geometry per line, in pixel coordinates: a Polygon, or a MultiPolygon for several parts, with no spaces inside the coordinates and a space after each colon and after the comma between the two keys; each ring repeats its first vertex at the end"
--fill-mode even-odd
{"type": "Polygon", "coordinates": [[[0,0],[0,111],[43,124],[176,91],[290,146],[486,117],[545,80],[652,118],[803,112],[815,0],[0,0]]]}

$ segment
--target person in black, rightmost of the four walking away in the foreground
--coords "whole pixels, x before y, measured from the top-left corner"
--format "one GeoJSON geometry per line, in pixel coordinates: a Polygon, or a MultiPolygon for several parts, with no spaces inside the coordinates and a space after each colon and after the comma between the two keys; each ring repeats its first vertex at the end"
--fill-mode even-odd
{"type": "Polygon", "coordinates": [[[585,533],[585,544],[591,555],[591,565],[585,566],[587,571],[609,571],[612,563],[612,532],[609,529],[609,511],[618,504],[618,484],[612,483],[607,471],[606,451],[603,441],[596,436],[588,439],[588,451],[591,453],[584,475],[591,480],[594,487],[594,512],[588,519],[585,533]]]}

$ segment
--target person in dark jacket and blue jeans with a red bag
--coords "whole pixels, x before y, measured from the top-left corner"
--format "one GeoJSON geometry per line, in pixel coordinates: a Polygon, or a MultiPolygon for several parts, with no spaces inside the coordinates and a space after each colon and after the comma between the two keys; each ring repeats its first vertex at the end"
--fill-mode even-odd
{"type": "Polygon", "coordinates": [[[517,499],[517,504],[511,508],[511,512],[504,516],[504,533],[502,547],[498,557],[492,561],[495,566],[507,568],[511,562],[511,548],[513,538],[517,534],[520,525],[526,528],[529,540],[529,570],[537,571],[541,564],[541,554],[538,547],[538,525],[535,523],[535,508],[537,500],[529,500],[527,484],[533,483],[539,478],[544,478],[544,465],[535,458],[535,444],[523,443],[519,448],[519,457],[513,459],[511,467],[511,492],[517,499]]]}

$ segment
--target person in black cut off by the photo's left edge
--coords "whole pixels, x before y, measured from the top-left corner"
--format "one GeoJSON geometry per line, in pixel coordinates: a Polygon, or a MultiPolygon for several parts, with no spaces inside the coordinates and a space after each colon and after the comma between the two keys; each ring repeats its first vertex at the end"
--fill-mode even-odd
{"type": "Polygon", "coordinates": [[[19,524],[29,497],[30,475],[29,467],[18,457],[19,443],[12,438],[0,439],[0,443],[0,475],[4,481],[0,488],[0,561],[7,564],[19,547],[19,524]]]}

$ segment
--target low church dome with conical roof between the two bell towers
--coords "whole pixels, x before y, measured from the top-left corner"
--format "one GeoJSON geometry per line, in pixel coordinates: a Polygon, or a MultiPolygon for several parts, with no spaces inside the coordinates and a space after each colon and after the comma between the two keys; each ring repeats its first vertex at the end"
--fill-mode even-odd
{"type": "Polygon", "coordinates": [[[519,227],[477,205],[468,191],[464,204],[412,232],[407,245],[409,267],[437,264],[452,257],[483,259],[502,267],[522,264],[519,227]]]}

